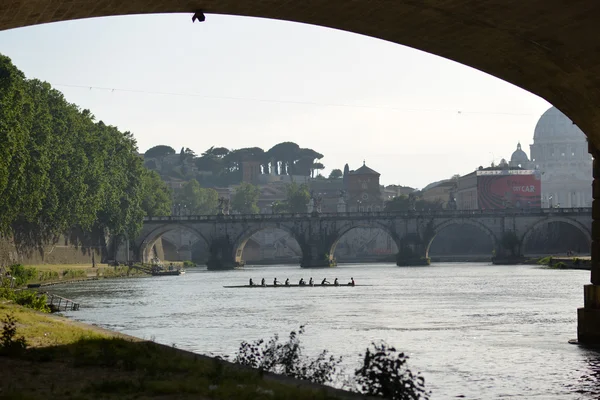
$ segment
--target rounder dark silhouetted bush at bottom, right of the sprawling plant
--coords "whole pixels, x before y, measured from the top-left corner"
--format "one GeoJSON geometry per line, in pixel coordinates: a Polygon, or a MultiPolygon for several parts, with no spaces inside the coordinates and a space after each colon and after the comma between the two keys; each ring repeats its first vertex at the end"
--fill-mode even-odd
{"type": "Polygon", "coordinates": [[[408,369],[407,360],[407,355],[384,342],[371,343],[362,367],[355,371],[360,391],[390,400],[428,399],[425,379],[408,369]]]}

